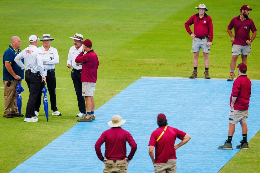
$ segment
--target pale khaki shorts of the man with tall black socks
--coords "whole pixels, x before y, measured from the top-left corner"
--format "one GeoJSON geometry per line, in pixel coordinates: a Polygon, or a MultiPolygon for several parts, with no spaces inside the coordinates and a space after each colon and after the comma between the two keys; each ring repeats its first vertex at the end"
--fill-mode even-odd
{"type": "Polygon", "coordinates": [[[238,110],[231,109],[228,115],[230,124],[237,124],[240,121],[246,123],[247,118],[248,118],[248,110],[238,111],[238,110]]]}

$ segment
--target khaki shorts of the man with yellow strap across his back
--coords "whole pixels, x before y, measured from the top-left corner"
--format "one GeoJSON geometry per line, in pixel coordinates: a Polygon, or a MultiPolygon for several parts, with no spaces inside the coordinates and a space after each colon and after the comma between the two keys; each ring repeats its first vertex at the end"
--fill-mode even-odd
{"type": "Polygon", "coordinates": [[[155,173],[176,173],[176,159],[169,159],[166,163],[155,163],[154,171],[155,173]]]}

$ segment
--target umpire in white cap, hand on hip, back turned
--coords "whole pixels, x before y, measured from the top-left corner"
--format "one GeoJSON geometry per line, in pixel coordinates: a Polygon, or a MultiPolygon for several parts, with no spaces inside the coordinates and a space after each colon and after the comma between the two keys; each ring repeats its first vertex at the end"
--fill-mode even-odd
{"type": "Polygon", "coordinates": [[[38,118],[35,117],[35,100],[39,93],[42,82],[46,81],[43,62],[42,52],[37,49],[38,37],[31,35],[29,37],[30,45],[19,53],[14,61],[21,69],[25,69],[25,81],[29,88],[29,99],[25,111],[25,122],[37,122],[38,118]],[[22,59],[25,60],[25,64],[22,63],[22,59]]]}

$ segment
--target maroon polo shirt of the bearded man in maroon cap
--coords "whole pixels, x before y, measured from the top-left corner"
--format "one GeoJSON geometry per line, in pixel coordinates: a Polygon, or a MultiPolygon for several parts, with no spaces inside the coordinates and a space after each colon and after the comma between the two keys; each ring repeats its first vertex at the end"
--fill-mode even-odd
{"type": "Polygon", "coordinates": [[[246,46],[247,40],[250,40],[250,30],[252,32],[257,31],[256,26],[252,19],[247,17],[242,22],[240,19],[240,15],[237,17],[234,17],[230,21],[227,28],[229,30],[232,30],[234,28],[234,30],[235,30],[235,42],[233,42],[232,45],[241,45],[241,46],[246,46]]]}

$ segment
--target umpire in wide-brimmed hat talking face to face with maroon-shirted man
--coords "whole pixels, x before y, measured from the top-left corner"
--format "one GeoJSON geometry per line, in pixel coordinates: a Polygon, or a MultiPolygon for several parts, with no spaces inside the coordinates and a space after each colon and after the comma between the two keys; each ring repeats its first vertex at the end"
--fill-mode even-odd
{"type": "Polygon", "coordinates": [[[74,46],[72,46],[69,50],[68,54],[68,61],[67,61],[67,67],[71,68],[71,79],[74,84],[74,88],[77,95],[78,100],[78,107],[79,107],[79,114],[77,114],[77,117],[83,117],[86,114],[86,104],[85,99],[82,96],[82,82],[81,82],[81,69],[82,64],[76,63],[75,59],[79,55],[79,53],[82,51],[83,44],[83,36],[81,34],[76,33],[73,37],[70,37],[73,39],[74,46]]]}

